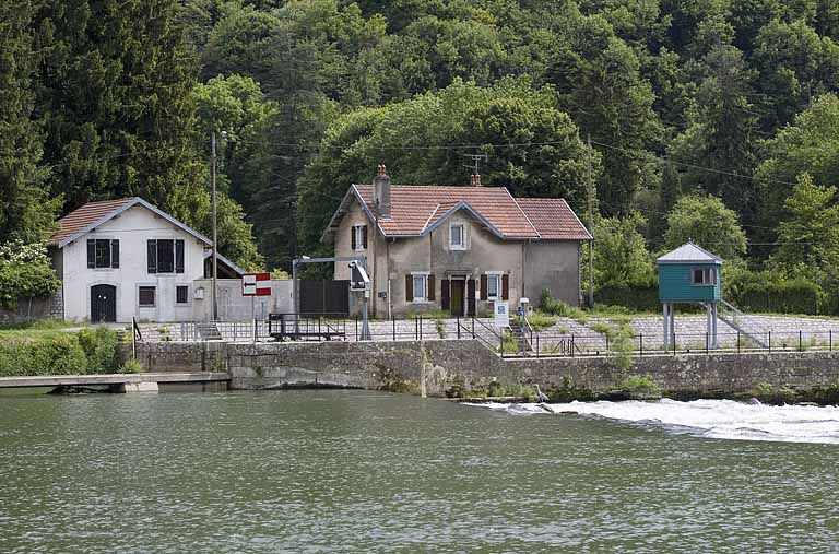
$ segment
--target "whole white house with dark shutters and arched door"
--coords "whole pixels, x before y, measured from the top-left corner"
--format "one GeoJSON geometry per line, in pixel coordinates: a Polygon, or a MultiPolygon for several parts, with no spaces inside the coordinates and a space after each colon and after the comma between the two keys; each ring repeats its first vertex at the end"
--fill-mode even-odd
{"type": "Polygon", "coordinates": [[[211,302],[194,284],[211,240],[145,200],[91,202],[59,225],[50,254],[66,320],[186,321],[211,302]]]}

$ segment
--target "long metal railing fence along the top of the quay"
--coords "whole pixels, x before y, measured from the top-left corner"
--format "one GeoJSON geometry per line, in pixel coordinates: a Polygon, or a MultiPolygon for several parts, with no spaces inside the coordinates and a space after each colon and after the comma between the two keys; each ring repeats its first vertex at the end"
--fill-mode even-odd
{"type": "MultiPolygon", "coordinates": [[[[769,330],[761,333],[720,332],[717,347],[708,333],[673,333],[665,347],[661,333],[596,332],[556,329],[535,331],[498,331],[489,318],[427,318],[370,320],[374,342],[476,340],[504,357],[521,356],[648,356],[676,354],[711,354],[713,352],[804,352],[834,350],[832,330],[769,330]]],[[[361,341],[362,321],[328,314],[272,314],[268,320],[187,321],[146,327],[144,341],[361,341]]],[[[837,335],[839,338],[839,335],[837,335]]]]}

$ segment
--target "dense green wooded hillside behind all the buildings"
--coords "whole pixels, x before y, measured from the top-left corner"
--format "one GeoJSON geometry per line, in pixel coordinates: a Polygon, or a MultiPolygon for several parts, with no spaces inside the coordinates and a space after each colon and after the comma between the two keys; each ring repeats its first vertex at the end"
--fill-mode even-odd
{"type": "Polygon", "coordinates": [[[581,213],[590,138],[599,287],[693,239],[830,304],[838,42],[836,0],[5,0],[0,233],[130,195],[206,232],[225,131],[220,249],[287,268],[379,163],[466,185],[486,154],[581,213]]]}

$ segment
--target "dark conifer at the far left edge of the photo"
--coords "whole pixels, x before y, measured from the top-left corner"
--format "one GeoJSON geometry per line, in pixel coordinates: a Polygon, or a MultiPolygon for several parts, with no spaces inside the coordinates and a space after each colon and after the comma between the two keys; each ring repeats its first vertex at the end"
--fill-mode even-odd
{"type": "Polygon", "coordinates": [[[32,119],[33,10],[29,1],[0,3],[0,236],[27,243],[47,238],[61,201],[47,197],[49,170],[39,165],[40,129],[32,119]]]}

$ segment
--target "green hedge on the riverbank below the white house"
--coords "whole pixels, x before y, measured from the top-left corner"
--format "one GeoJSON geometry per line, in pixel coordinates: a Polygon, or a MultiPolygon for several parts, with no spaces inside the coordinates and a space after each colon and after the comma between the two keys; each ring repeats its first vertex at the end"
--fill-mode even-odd
{"type": "Polygon", "coordinates": [[[108,329],[0,338],[0,377],[120,370],[117,333],[108,329]]]}

